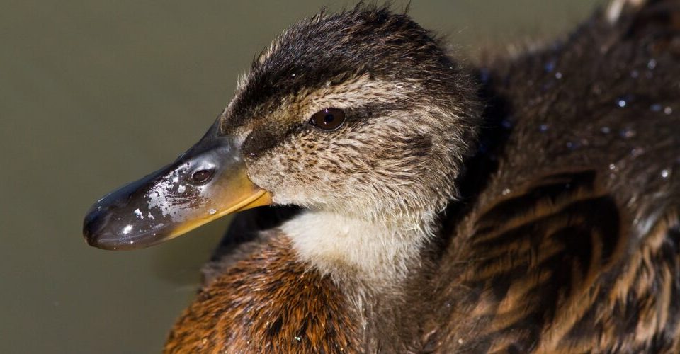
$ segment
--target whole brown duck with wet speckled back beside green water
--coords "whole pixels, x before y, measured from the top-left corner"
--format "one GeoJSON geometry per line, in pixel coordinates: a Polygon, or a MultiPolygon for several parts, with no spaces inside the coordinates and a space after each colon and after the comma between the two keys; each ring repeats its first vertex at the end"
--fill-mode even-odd
{"type": "Polygon", "coordinates": [[[679,18],[614,0],[471,62],[407,11],[322,11],[85,239],[239,213],[165,353],[678,353],[679,18]]]}

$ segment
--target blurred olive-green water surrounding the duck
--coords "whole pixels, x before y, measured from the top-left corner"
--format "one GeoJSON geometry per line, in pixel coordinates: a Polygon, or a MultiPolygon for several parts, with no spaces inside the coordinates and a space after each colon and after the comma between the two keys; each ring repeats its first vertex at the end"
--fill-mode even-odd
{"type": "MultiPolygon", "coordinates": [[[[84,212],[196,142],[287,25],[344,4],[0,0],[0,353],[159,352],[228,220],[111,252],[84,244],[84,212]]],[[[601,4],[413,0],[411,14],[474,53],[601,4]]]]}

